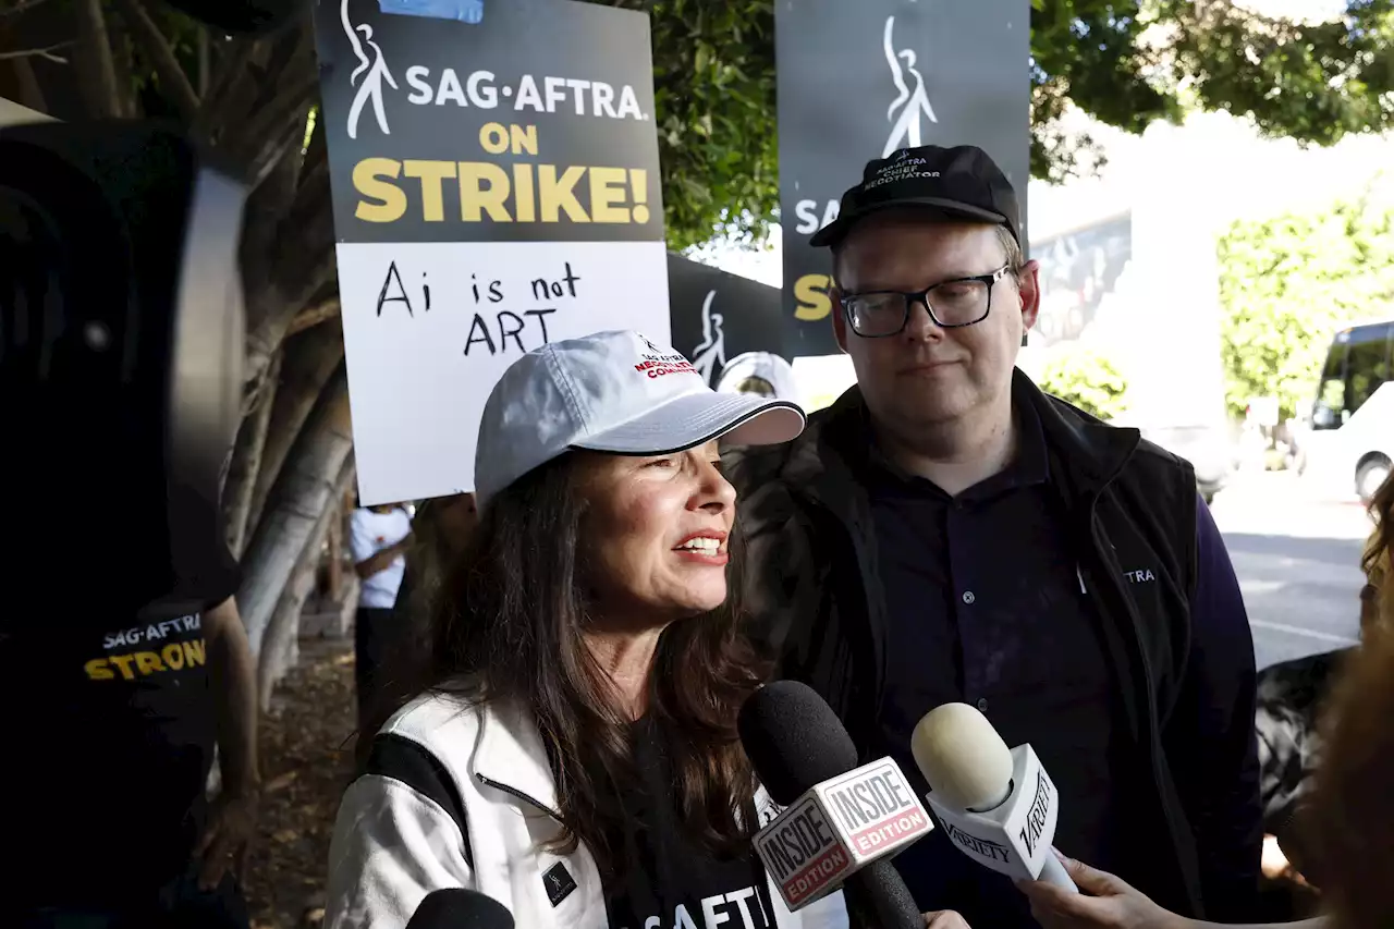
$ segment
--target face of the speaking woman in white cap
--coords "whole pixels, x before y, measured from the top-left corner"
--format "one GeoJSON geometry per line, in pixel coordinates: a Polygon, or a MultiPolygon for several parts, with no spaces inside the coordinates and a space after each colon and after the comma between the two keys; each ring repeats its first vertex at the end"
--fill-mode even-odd
{"type": "Polygon", "coordinates": [[[725,603],[736,491],[721,476],[717,448],[584,453],[581,561],[599,618],[657,625],[725,603]]]}

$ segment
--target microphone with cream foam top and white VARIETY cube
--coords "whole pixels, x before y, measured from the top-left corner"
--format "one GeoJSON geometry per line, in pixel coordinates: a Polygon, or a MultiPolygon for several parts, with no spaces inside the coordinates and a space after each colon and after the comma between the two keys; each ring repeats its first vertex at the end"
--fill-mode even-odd
{"type": "Polygon", "coordinates": [[[914,727],[910,752],[930,783],[924,799],[959,851],[1013,880],[1078,893],[1051,851],[1059,791],[1030,745],[1008,750],[977,709],[945,703],[914,727]]]}

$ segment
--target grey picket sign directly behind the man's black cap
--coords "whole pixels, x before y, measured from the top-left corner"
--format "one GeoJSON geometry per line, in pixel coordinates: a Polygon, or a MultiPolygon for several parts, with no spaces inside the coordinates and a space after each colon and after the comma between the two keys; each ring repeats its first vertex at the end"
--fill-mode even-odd
{"type": "Polygon", "coordinates": [[[977,145],[1016,187],[1026,232],[1030,3],[781,0],[775,6],[783,307],[795,356],[832,354],[827,250],[867,160],[977,145]]]}

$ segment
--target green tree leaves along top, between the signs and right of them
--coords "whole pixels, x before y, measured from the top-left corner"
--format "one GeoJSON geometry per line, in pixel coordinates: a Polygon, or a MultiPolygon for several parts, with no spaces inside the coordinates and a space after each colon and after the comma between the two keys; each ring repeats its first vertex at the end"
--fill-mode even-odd
{"type": "MultiPolygon", "coordinates": [[[[609,0],[652,17],[669,246],[760,241],[779,204],[774,0],[609,0]]],[[[1394,124],[1394,0],[1296,27],[1232,0],[1032,0],[1032,174],[1097,159],[1073,106],[1140,133],[1188,107],[1327,145],[1394,124]]]]}

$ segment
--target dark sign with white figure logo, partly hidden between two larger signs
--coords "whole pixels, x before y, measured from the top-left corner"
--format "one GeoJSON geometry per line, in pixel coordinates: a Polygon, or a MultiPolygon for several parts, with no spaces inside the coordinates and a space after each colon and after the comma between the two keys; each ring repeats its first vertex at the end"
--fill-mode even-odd
{"type": "Polygon", "coordinates": [[[668,255],[672,346],[712,388],[725,367],[749,352],[786,356],[779,289],[710,265],[668,255]]]}

